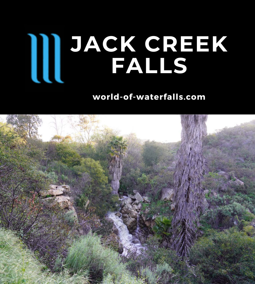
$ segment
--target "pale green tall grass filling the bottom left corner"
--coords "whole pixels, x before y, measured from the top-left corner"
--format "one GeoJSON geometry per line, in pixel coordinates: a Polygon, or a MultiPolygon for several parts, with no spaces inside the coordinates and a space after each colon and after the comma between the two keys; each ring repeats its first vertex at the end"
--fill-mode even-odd
{"type": "Polygon", "coordinates": [[[21,243],[14,232],[0,228],[0,283],[1,284],[87,284],[86,273],[72,276],[68,270],[51,273],[44,270],[35,256],[21,243]]]}

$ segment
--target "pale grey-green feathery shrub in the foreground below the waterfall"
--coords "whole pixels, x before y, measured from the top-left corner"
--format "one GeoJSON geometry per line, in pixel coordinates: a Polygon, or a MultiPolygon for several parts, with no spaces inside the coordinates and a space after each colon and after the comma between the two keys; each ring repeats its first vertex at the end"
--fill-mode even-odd
{"type": "Polygon", "coordinates": [[[113,275],[119,279],[126,272],[120,262],[119,254],[101,245],[100,237],[91,233],[74,241],[69,248],[65,266],[77,273],[80,270],[89,271],[93,279],[103,279],[105,275],[113,275]]]}

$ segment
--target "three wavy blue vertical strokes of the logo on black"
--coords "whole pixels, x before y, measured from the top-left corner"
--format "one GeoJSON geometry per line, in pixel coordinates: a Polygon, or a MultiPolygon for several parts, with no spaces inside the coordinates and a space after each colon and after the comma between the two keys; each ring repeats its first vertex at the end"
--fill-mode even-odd
{"type": "MultiPolygon", "coordinates": [[[[39,34],[43,38],[43,80],[46,83],[52,83],[49,80],[49,38],[45,34],[39,34]]],[[[51,34],[55,41],[55,80],[58,83],[64,83],[60,79],[60,37],[57,34],[51,34]]],[[[31,37],[31,79],[35,83],[41,83],[37,80],[37,37],[34,34],[28,34],[31,37]]]]}

